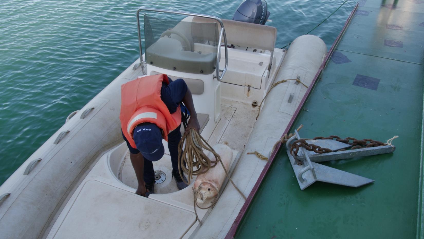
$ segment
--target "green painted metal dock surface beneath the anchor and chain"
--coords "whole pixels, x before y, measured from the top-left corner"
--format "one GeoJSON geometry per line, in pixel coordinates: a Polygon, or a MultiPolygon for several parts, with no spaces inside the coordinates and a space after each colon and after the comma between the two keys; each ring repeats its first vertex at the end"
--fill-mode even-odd
{"type": "Polygon", "coordinates": [[[324,163],[375,180],[301,191],[285,146],[227,238],[423,238],[424,1],[360,0],[289,132],[387,141],[391,154],[324,163]]]}

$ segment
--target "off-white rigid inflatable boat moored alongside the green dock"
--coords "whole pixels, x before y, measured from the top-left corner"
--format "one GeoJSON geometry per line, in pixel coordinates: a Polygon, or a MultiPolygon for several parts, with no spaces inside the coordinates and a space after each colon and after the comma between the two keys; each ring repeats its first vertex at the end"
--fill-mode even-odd
{"type": "Polygon", "coordinates": [[[120,128],[120,90],[142,76],[184,79],[201,136],[249,195],[267,162],[247,153],[271,154],[327,53],[312,35],[296,38],[288,50],[276,48],[277,29],[264,25],[266,6],[260,10],[250,17],[240,10],[239,20],[225,20],[139,8],[140,58],[68,115],[0,187],[1,238],[223,238],[245,202],[225,174],[215,174],[222,182],[215,205],[195,208],[192,185],[178,191],[165,152],[154,162],[155,193],[135,194],[137,179],[120,128]],[[295,80],[281,82],[288,79],[295,80]]]}

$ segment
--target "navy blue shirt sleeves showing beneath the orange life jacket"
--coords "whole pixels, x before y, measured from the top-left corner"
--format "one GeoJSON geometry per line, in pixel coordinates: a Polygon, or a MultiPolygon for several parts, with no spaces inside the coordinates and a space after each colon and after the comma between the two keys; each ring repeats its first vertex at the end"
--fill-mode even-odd
{"type": "MultiPolygon", "coordinates": [[[[169,77],[169,84],[167,85],[165,82],[162,82],[162,89],[160,90],[160,98],[165,103],[169,112],[172,114],[176,112],[179,104],[183,100],[185,94],[187,93],[187,84],[183,79],[176,79],[172,81],[169,77]]],[[[127,142],[128,149],[132,154],[138,154],[140,151],[138,149],[134,149],[128,140],[125,138],[124,134],[122,134],[124,140],[127,142]]]]}

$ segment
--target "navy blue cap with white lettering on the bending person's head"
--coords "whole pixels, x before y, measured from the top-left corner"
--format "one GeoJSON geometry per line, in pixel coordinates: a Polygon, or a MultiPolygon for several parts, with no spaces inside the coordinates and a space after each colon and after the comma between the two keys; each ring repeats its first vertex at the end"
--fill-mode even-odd
{"type": "Polygon", "coordinates": [[[162,132],[156,124],[142,124],[134,128],[134,142],[143,157],[157,161],[165,154],[162,132]]]}

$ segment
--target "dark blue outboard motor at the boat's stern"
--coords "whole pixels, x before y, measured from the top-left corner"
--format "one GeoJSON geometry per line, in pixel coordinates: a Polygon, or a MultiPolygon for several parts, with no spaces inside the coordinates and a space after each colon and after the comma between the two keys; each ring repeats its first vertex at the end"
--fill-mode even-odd
{"type": "Polygon", "coordinates": [[[233,20],[265,25],[270,14],[265,0],[244,0],[234,13],[233,20]]]}

